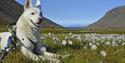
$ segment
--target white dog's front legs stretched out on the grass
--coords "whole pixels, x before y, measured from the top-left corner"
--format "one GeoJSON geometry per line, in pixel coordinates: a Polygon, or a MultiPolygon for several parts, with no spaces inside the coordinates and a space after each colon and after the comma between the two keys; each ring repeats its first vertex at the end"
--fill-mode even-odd
{"type": "Polygon", "coordinates": [[[54,54],[54,53],[49,53],[49,52],[44,52],[42,55],[36,55],[33,54],[30,50],[26,49],[25,47],[21,47],[22,53],[34,60],[34,61],[50,61],[51,63],[60,63],[61,61],[57,59],[60,55],[54,54]]]}

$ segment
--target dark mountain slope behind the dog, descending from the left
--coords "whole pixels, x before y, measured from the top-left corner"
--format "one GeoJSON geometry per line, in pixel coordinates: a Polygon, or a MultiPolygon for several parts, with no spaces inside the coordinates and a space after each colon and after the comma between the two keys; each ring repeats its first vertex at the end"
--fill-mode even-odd
{"type": "MultiPolygon", "coordinates": [[[[0,23],[16,23],[23,11],[23,6],[15,0],[0,0],[0,23]]],[[[44,28],[63,28],[45,17],[43,20],[44,28]]]]}

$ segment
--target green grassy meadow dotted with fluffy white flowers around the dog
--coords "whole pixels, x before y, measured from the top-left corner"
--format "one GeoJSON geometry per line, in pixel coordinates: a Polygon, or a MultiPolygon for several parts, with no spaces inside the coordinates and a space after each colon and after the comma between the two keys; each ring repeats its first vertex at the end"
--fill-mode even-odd
{"type": "MultiPolygon", "coordinates": [[[[0,31],[7,31],[0,25],[0,31]]],[[[85,31],[68,29],[42,29],[41,44],[57,54],[71,54],[64,63],[125,63],[125,35],[123,31],[85,31]]],[[[3,63],[47,63],[32,61],[18,48],[9,52],[3,63]]]]}

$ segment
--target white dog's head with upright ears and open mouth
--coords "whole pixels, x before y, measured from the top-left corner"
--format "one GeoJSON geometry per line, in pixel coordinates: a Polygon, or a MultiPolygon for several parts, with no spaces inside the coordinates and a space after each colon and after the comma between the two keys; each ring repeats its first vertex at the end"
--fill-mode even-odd
{"type": "Polygon", "coordinates": [[[35,6],[32,5],[32,0],[26,0],[24,5],[24,14],[23,14],[33,27],[40,27],[40,24],[43,21],[41,13],[41,1],[36,0],[35,6]]]}

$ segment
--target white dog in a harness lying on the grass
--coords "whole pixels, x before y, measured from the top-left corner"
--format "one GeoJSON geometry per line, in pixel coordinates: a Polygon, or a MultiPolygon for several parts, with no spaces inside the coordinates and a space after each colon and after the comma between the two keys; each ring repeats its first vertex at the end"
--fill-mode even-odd
{"type": "MultiPolygon", "coordinates": [[[[37,0],[35,7],[32,6],[31,0],[26,0],[24,12],[16,24],[16,36],[21,43],[21,51],[26,57],[35,61],[42,60],[50,61],[51,63],[60,63],[61,61],[57,58],[66,57],[67,55],[61,56],[42,51],[39,33],[40,24],[42,21],[40,8],[40,0],[37,0]]],[[[5,42],[7,42],[6,40],[8,40],[8,37],[11,36],[11,33],[6,32],[0,35],[1,48],[4,49],[4,47],[7,45],[5,42]],[[6,36],[4,34],[6,34],[6,36]]]]}

